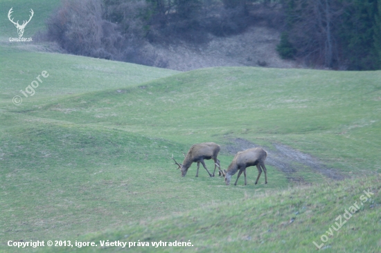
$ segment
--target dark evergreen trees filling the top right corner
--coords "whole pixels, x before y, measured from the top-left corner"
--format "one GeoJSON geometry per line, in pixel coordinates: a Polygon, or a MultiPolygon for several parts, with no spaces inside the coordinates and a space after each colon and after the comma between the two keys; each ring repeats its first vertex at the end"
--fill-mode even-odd
{"type": "Polygon", "coordinates": [[[348,70],[381,69],[380,0],[283,0],[283,58],[348,70]]]}

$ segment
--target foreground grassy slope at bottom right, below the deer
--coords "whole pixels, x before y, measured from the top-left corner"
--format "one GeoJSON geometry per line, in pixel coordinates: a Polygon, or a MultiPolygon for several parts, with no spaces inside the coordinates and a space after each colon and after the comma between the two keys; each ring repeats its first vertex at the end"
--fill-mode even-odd
{"type": "MultiPolygon", "coordinates": [[[[127,242],[130,252],[316,252],[317,247],[324,252],[380,252],[380,180],[380,176],[358,178],[270,190],[238,200],[227,198],[224,203],[175,216],[135,221],[118,229],[88,234],[78,241],[94,242],[96,247],[69,249],[123,250],[100,246],[100,241],[109,240],[127,242]],[[360,209],[351,209],[354,204],[360,209]],[[354,214],[349,216],[346,210],[354,214]],[[336,219],[339,216],[342,220],[336,219]],[[342,224],[337,231],[333,228],[338,228],[336,222],[342,224]],[[325,243],[321,241],[323,235],[325,243]],[[159,241],[190,242],[192,246],[152,246],[152,242],[159,241]],[[135,246],[130,247],[134,242],[135,246]],[[138,242],[148,242],[150,247],[138,246],[138,242]]],[[[68,247],[56,250],[66,252],[68,247]]],[[[45,248],[42,252],[48,251],[45,248]]]]}

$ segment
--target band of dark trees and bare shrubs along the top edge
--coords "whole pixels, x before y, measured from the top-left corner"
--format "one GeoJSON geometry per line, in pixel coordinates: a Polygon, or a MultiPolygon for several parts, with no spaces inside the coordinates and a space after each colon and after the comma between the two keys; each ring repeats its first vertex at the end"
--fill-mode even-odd
{"type": "Polygon", "coordinates": [[[142,45],[203,44],[258,24],[281,32],[283,59],[381,68],[380,0],[64,0],[40,37],[67,53],[166,67],[142,45]]]}

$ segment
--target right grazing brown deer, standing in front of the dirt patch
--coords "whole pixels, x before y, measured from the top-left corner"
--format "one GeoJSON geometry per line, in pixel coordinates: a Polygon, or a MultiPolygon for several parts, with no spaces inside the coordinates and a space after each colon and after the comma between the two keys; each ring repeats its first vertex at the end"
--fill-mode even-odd
{"type": "Polygon", "coordinates": [[[240,171],[238,172],[237,180],[234,183],[234,185],[237,185],[238,178],[240,178],[242,171],[243,171],[243,174],[245,175],[245,185],[246,185],[246,168],[256,165],[258,169],[258,177],[256,178],[256,184],[258,183],[258,179],[260,177],[260,174],[262,173],[262,169],[263,171],[265,171],[265,182],[267,184],[267,174],[266,174],[267,171],[265,167],[266,157],[267,157],[267,152],[261,148],[247,149],[245,151],[238,152],[236,156],[234,156],[233,161],[229,165],[229,168],[227,170],[224,169],[224,171],[222,171],[222,175],[225,178],[225,183],[229,185],[231,176],[236,174],[236,172],[239,169],[240,171]]]}

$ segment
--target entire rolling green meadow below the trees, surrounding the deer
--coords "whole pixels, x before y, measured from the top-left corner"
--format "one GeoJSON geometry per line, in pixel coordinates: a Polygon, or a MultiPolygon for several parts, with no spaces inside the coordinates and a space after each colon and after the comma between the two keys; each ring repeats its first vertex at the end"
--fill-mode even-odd
{"type": "Polygon", "coordinates": [[[0,45],[0,64],[0,252],[21,251],[10,240],[98,243],[54,248],[62,252],[123,250],[102,240],[193,244],[134,252],[314,252],[312,241],[320,245],[364,190],[374,195],[321,250],[381,252],[381,71],[179,73],[13,44],[0,45]],[[25,97],[42,71],[48,77],[25,97]],[[206,141],[221,145],[222,169],[236,151],[264,147],[268,184],[262,176],[254,185],[252,167],[246,186],[202,168],[195,178],[195,165],[181,178],[170,156],[181,162],[206,141]],[[270,162],[281,151],[286,169],[270,162]]]}

